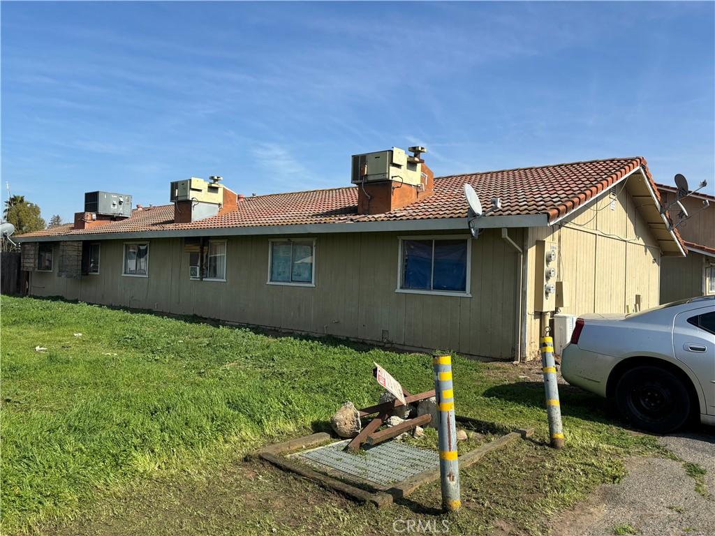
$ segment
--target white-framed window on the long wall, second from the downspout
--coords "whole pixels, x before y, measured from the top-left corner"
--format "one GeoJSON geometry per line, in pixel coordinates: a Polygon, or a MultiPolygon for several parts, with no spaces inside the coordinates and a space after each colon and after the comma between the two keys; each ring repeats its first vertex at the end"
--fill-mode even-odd
{"type": "Polygon", "coordinates": [[[315,240],[272,240],[269,284],[313,285],[315,240]]]}

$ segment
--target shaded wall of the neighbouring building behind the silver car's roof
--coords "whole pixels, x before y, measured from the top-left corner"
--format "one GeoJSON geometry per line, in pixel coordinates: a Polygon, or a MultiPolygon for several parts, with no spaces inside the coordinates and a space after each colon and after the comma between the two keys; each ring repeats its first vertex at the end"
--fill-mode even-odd
{"type": "Polygon", "coordinates": [[[705,294],[705,267],[715,259],[688,252],[687,257],[664,257],[661,263],[661,303],[705,294]]]}

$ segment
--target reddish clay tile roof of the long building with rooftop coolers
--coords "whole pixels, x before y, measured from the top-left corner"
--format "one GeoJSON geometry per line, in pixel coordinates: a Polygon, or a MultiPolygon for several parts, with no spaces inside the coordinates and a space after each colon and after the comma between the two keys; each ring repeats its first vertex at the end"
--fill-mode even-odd
{"type": "Polygon", "coordinates": [[[431,197],[385,214],[358,214],[358,188],[342,187],[246,197],[231,212],[191,223],[174,224],[174,206],[167,204],[134,209],[128,219],[101,227],[76,230],[53,227],[23,236],[463,218],[468,209],[463,194],[465,182],[483,199],[484,209],[490,208],[492,197],[501,197],[502,208],[493,212],[493,216],[544,214],[553,222],[640,166],[646,169],[659,197],[644,158],[613,158],[436,177],[431,197]]]}

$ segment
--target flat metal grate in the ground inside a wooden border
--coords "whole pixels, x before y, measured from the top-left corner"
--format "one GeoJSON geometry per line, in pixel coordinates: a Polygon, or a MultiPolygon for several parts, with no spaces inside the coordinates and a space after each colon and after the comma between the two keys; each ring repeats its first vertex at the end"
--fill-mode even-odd
{"type": "Polygon", "coordinates": [[[380,486],[401,482],[440,464],[436,451],[411,447],[399,441],[367,447],[359,454],[345,452],[345,445],[347,440],[293,456],[317,470],[327,467],[380,486]]]}

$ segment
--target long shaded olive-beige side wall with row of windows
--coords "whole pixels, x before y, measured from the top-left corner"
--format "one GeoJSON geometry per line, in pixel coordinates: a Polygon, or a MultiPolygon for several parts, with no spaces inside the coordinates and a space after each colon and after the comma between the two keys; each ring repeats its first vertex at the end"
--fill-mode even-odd
{"type": "MultiPolygon", "coordinates": [[[[99,274],[57,277],[55,253],[54,273],[31,272],[30,293],[513,359],[518,256],[500,230],[471,241],[471,297],[395,292],[399,236],[317,235],[315,287],[266,284],[268,237],[227,239],[226,282],[189,279],[182,239],[150,240],[149,277],[123,276],[123,242],[105,241],[99,274]]],[[[520,229],[511,237],[523,241],[520,229]]]]}

